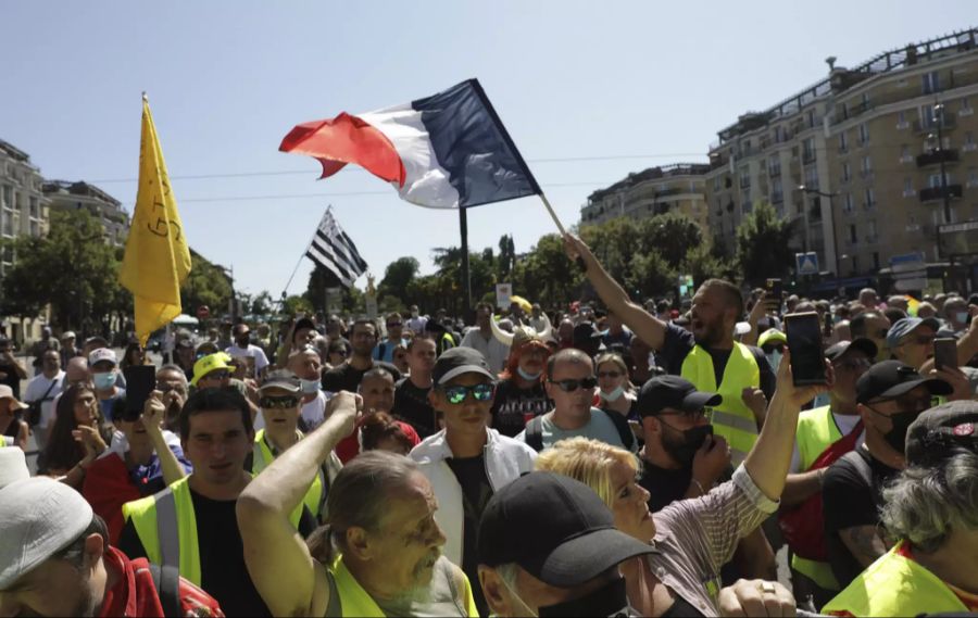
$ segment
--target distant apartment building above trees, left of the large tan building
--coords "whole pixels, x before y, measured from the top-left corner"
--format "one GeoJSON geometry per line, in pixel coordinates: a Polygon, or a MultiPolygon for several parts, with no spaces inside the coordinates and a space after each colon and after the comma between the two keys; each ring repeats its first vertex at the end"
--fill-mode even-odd
{"type": "Polygon", "coordinates": [[[641,219],[678,212],[705,231],[709,220],[704,174],[709,171],[710,166],[701,163],[677,163],[629,174],[588,196],[580,223],[597,225],[620,216],[641,219]]]}

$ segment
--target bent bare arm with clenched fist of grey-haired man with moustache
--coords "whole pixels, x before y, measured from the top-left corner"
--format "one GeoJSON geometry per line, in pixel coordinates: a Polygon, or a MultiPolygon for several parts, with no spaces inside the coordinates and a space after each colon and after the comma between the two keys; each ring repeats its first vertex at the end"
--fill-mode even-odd
{"type": "MultiPolygon", "coordinates": [[[[327,405],[326,421],[272,462],[238,499],[244,563],[274,616],[311,615],[317,582],[324,583],[305,541],[289,524],[289,514],[302,501],[319,465],[353,432],[356,408],[356,395],[336,394],[327,405]]],[[[321,594],[328,603],[328,589],[321,594]]]]}

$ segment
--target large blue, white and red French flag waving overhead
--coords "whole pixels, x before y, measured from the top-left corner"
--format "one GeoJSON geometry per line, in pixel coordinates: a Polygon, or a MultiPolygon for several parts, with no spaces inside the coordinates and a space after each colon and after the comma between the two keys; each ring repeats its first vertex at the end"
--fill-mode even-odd
{"type": "Polygon", "coordinates": [[[419,206],[542,194],[477,79],[405,105],[297,125],[279,150],[314,156],[322,178],[361,165],[419,206]]]}

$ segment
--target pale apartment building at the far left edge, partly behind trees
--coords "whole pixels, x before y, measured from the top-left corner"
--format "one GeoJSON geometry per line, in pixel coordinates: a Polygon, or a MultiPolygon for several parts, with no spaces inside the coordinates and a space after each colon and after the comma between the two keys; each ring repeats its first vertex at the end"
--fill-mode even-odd
{"type": "MultiPolygon", "coordinates": [[[[48,200],[41,189],[43,178],[30,156],[15,146],[0,140],[0,239],[41,236],[48,231],[48,200]]],[[[0,281],[16,262],[12,247],[0,248],[0,281]]],[[[43,318],[0,316],[8,337],[23,342],[40,337],[43,318]]]]}

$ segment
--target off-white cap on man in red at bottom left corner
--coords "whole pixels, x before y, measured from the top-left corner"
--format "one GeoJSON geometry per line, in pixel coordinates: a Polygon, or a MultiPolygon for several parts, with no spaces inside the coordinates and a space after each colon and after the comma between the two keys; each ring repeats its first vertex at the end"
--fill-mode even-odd
{"type": "Polygon", "coordinates": [[[82,494],[47,477],[0,490],[0,590],[67,547],[90,525],[91,506],[82,494]]]}

